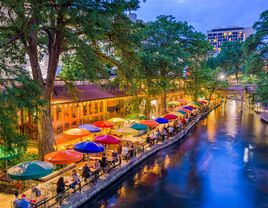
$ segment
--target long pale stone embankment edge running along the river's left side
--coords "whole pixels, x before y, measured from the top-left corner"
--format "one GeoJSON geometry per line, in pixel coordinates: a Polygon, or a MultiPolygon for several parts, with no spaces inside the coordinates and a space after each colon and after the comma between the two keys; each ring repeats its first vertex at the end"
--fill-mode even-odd
{"type": "Polygon", "coordinates": [[[188,132],[196,126],[200,120],[207,117],[208,114],[217,108],[220,104],[214,106],[212,109],[210,109],[208,112],[203,113],[199,116],[197,116],[184,130],[182,130],[179,134],[175,135],[169,140],[164,141],[161,144],[154,145],[152,148],[142,152],[141,154],[137,155],[137,157],[133,158],[130,162],[121,165],[121,167],[115,168],[113,171],[109,173],[109,175],[103,179],[102,181],[98,181],[97,184],[91,186],[88,189],[83,190],[81,193],[76,193],[71,195],[68,198],[68,201],[65,202],[64,205],[61,207],[72,207],[76,208],[90,199],[92,197],[96,196],[97,194],[101,193],[104,189],[106,189],[108,186],[115,183],[119,178],[121,178],[123,175],[127,174],[129,171],[131,171],[133,168],[135,168],[137,165],[142,163],[147,158],[151,157],[152,155],[156,154],[158,151],[167,148],[175,143],[183,142],[185,136],[188,134],[188,132]]]}

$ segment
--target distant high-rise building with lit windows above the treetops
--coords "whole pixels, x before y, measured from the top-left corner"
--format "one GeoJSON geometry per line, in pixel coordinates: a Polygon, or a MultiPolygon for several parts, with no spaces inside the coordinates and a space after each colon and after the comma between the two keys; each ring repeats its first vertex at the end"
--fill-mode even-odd
{"type": "Polygon", "coordinates": [[[252,33],[251,27],[222,27],[207,31],[207,38],[215,53],[219,53],[224,42],[243,42],[252,33]]]}

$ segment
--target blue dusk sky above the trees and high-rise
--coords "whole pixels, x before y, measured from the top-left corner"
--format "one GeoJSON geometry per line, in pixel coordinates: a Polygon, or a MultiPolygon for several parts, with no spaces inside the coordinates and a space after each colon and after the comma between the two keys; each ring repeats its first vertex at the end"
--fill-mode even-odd
{"type": "Polygon", "coordinates": [[[146,0],[135,13],[138,19],[153,21],[159,15],[173,15],[197,31],[222,26],[250,27],[268,9],[268,0],[146,0]]]}

